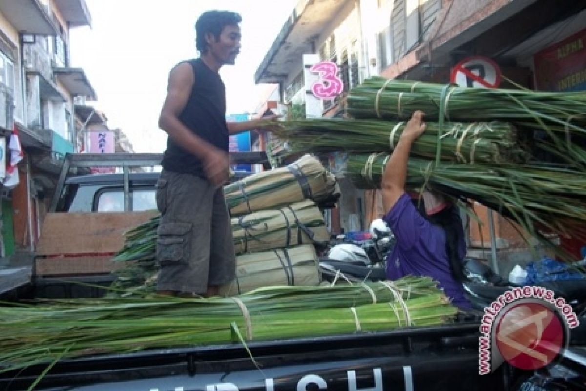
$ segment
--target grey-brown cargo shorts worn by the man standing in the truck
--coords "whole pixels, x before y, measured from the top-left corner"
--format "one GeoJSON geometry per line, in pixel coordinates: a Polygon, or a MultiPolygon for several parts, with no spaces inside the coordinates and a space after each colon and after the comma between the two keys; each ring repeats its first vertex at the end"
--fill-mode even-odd
{"type": "Polygon", "coordinates": [[[236,256],[224,189],[191,174],[161,172],[156,240],[157,290],[206,293],[236,278],[236,256]]]}

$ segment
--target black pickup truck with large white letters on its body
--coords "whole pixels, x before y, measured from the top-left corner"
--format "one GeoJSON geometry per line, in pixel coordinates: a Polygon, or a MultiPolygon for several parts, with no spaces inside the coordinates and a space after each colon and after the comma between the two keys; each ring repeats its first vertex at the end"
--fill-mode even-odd
{"type": "MultiPolygon", "coordinates": [[[[63,178],[53,213],[60,215],[57,219],[71,217],[63,220],[70,226],[76,215],[80,217],[79,223],[86,225],[84,219],[89,215],[137,216],[146,213],[141,210],[148,210],[148,203],[152,202],[149,194],[154,180],[153,173],[63,178]],[[118,194],[118,201],[122,198],[117,208],[125,212],[94,213],[105,208],[102,197],[109,193],[118,194]]],[[[91,252],[87,255],[96,256],[91,252]]],[[[101,273],[86,275],[86,283],[91,283],[88,286],[76,284],[79,276],[36,276],[29,290],[13,292],[2,299],[96,297],[103,293],[97,287],[100,278],[107,277],[101,273]],[[63,284],[63,288],[56,289],[58,284],[63,284]]],[[[234,343],[88,355],[59,361],[47,373],[47,363],[13,372],[2,372],[0,363],[0,390],[30,389],[39,378],[36,390],[586,389],[585,341],[574,341],[551,368],[526,371],[505,363],[489,375],[479,375],[479,316],[480,313],[461,316],[453,324],[440,327],[253,341],[248,343],[250,354],[242,344],[234,343]]]]}

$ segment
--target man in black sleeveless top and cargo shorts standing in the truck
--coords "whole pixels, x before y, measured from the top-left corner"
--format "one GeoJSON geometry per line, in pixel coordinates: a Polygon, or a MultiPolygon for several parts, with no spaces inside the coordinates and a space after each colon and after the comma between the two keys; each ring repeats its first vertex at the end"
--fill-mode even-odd
{"type": "Polygon", "coordinates": [[[240,21],[235,12],[203,13],[195,25],[200,57],[180,62],[169,75],[159,118],[169,139],[156,184],[162,294],[215,295],[236,277],[222,188],[229,173],[228,137],[259,126],[226,123],[226,90],[218,72],[240,53],[240,21]]]}

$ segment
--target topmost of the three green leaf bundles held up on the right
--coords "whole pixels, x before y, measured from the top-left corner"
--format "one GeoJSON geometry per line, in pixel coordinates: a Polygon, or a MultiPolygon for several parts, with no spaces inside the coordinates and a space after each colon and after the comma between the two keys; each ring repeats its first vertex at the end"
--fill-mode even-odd
{"type": "Polygon", "coordinates": [[[586,134],[586,94],[481,89],[371,77],[350,91],[354,118],[407,119],[415,110],[446,121],[511,121],[586,134]]]}

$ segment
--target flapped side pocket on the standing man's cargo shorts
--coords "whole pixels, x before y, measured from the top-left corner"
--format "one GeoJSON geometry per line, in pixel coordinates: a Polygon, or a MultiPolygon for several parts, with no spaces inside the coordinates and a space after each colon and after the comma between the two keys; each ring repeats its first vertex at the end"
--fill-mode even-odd
{"type": "Polygon", "coordinates": [[[189,263],[191,231],[190,223],[166,223],[159,226],[156,260],[160,266],[189,263]]]}

